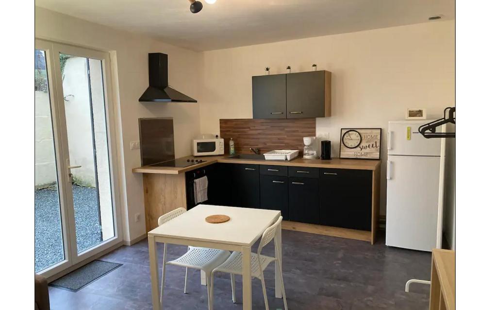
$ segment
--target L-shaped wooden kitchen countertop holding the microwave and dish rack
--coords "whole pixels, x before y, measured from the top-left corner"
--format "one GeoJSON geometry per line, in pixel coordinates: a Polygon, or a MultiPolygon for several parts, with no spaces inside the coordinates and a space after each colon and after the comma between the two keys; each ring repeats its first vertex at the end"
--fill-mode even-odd
{"type": "MultiPolygon", "coordinates": [[[[358,170],[376,170],[380,165],[380,160],[367,159],[303,159],[302,157],[295,158],[291,161],[279,160],[248,160],[248,159],[228,159],[229,155],[219,156],[199,156],[195,159],[202,159],[205,162],[188,166],[184,168],[176,167],[152,167],[142,166],[133,168],[134,173],[160,173],[160,174],[180,174],[190,170],[195,170],[201,167],[212,165],[214,163],[232,163],[232,164],[253,164],[253,165],[274,165],[274,166],[294,166],[294,167],[314,167],[314,168],[337,168],[337,169],[358,169],[358,170]]],[[[185,156],[182,159],[194,158],[193,156],[185,156]]]]}

